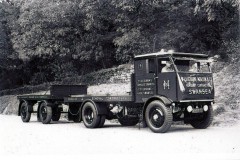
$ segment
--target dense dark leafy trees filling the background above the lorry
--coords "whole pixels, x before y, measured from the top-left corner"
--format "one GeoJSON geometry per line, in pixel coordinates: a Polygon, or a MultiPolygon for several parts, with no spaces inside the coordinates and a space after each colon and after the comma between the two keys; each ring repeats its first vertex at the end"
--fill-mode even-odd
{"type": "Polygon", "coordinates": [[[0,90],[174,49],[239,62],[238,0],[2,0],[0,90]]]}

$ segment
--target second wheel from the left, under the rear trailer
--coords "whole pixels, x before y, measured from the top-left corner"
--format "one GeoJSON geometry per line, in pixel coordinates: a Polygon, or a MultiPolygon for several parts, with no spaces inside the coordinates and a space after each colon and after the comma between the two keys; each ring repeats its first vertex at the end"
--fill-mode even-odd
{"type": "Polygon", "coordinates": [[[52,119],[52,107],[47,106],[45,102],[40,105],[40,120],[43,124],[49,124],[52,119]]]}

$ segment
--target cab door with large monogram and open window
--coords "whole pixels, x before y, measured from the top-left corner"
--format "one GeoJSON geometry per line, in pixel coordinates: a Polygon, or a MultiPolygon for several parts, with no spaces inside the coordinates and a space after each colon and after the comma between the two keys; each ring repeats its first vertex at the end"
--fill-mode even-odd
{"type": "Polygon", "coordinates": [[[158,60],[158,95],[165,96],[171,100],[177,100],[177,76],[169,58],[159,58],[158,60]],[[166,70],[166,64],[170,63],[170,69],[166,70]]]}

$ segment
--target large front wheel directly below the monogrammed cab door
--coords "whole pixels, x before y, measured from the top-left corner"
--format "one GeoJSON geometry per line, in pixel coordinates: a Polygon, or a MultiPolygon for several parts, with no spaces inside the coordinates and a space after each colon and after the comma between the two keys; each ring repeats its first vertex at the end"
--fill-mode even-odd
{"type": "Polygon", "coordinates": [[[147,126],[155,133],[165,133],[172,125],[171,109],[162,102],[152,101],[146,108],[145,119],[147,126]]]}

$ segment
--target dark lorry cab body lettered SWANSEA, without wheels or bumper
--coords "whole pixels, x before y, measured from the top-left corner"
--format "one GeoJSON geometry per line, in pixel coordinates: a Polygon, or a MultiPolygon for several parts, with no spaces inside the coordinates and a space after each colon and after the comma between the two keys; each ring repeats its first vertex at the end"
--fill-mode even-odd
{"type": "Polygon", "coordinates": [[[172,102],[214,99],[210,61],[205,54],[158,52],[135,57],[135,101],[163,96],[172,102]]]}

